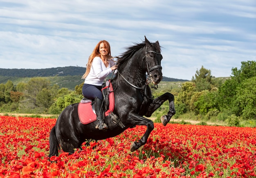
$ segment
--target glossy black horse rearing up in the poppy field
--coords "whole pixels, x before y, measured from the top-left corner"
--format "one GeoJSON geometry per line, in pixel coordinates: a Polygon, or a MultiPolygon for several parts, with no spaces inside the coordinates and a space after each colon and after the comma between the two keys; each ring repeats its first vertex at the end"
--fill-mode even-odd
{"type": "MultiPolygon", "coordinates": [[[[112,86],[115,95],[115,113],[125,125],[124,128],[116,125],[113,129],[100,131],[95,129],[97,121],[83,125],[78,116],[78,104],[67,106],[56,121],[49,137],[49,157],[58,156],[61,148],[70,154],[75,148],[81,148],[87,140],[103,140],[121,134],[129,127],[135,125],[146,125],[147,130],[142,138],[131,144],[130,151],[139,149],[145,145],[150,132],[154,129],[150,117],[166,100],[169,101],[167,115],[161,117],[165,126],[175,114],[174,96],[171,93],[164,93],[158,98],[152,99],[148,84],[157,84],[162,80],[161,49],[159,42],[151,43],[146,39],[140,44],[127,48],[127,51],[118,57],[118,73],[112,79],[112,86]],[[146,75],[147,73],[147,75],[146,75]],[[61,147],[60,147],[61,146],[61,147]]],[[[106,122],[110,123],[109,120],[106,122]]]]}

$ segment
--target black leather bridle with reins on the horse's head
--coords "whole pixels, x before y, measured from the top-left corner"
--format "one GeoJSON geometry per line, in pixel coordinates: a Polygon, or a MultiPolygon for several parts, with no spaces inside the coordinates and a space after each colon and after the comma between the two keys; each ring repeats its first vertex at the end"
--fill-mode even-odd
{"type": "MultiPolygon", "coordinates": [[[[141,66],[142,66],[142,63],[143,63],[143,61],[144,61],[144,59],[146,58],[146,64],[147,64],[147,80],[146,80],[146,83],[145,83],[145,85],[143,86],[143,87],[137,87],[137,86],[135,86],[135,85],[133,85],[132,83],[130,83],[128,80],[126,80],[126,78],[124,78],[124,76],[122,76],[121,75],[121,73],[117,70],[117,72],[119,73],[119,75],[129,84],[129,85],[131,85],[132,87],[134,87],[134,88],[136,88],[136,89],[144,89],[144,87],[146,86],[146,85],[148,85],[148,84],[150,84],[150,82],[152,82],[153,84],[154,84],[154,81],[153,81],[153,77],[152,77],[152,75],[151,75],[151,71],[153,71],[153,70],[155,70],[155,69],[162,69],[162,66],[161,65],[155,65],[155,66],[153,66],[153,67],[149,67],[149,60],[148,60],[148,53],[149,52],[152,52],[152,53],[155,53],[155,54],[157,54],[157,55],[161,55],[161,53],[157,53],[157,52],[155,52],[155,51],[147,51],[146,53],[145,53],[145,56],[143,57],[143,60],[142,60],[142,62],[141,62],[141,66]]],[[[152,86],[151,85],[151,88],[155,88],[155,89],[157,89],[157,84],[154,84],[155,86],[152,86]]]]}

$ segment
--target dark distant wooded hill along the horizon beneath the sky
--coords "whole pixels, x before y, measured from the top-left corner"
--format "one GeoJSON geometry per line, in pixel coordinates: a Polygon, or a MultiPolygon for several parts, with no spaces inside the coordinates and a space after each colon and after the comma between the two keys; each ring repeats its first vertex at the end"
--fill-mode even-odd
{"type": "MultiPolygon", "coordinates": [[[[0,69],[0,76],[4,77],[52,77],[52,76],[83,76],[85,67],[55,67],[48,69],[0,69]]],[[[166,82],[184,82],[188,80],[163,77],[166,82]]]]}

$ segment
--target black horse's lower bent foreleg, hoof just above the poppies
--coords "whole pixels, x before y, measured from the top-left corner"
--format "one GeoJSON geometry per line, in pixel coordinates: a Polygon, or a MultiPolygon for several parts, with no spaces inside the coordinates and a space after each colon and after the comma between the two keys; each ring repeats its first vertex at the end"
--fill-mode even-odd
{"type": "Polygon", "coordinates": [[[130,117],[128,118],[127,121],[130,121],[130,123],[132,123],[132,125],[146,125],[147,126],[147,130],[146,130],[145,134],[141,137],[141,139],[133,142],[130,147],[130,151],[135,151],[135,150],[139,149],[139,147],[141,147],[142,145],[146,144],[149,134],[154,129],[154,123],[152,120],[146,119],[137,114],[130,114],[130,117]]]}

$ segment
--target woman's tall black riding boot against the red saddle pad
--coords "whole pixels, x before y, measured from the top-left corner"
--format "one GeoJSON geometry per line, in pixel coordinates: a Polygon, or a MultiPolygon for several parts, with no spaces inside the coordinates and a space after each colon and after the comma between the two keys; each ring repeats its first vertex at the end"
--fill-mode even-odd
{"type": "Polygon", "coordinates": [[[95,128],[99,130],[108,129],[108,126],[104,123],[104,109],[102,105],[102,100],[98,97],[95,97],[94,102],[95,112],[97,115],[97,125],[95,128]]]}

